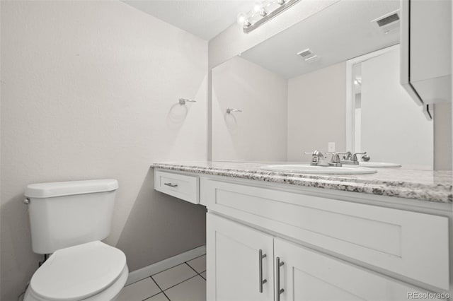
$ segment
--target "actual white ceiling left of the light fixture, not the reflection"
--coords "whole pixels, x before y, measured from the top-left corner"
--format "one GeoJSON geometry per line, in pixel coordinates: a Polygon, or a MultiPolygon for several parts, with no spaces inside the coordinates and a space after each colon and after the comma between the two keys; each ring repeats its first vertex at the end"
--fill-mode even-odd
{"type": "Polygon", "coordinates": [[[238,13],[250,11],[254,1],[241,0],[122,0],[166,23],[211,40],[236,22],[238,13]]]}

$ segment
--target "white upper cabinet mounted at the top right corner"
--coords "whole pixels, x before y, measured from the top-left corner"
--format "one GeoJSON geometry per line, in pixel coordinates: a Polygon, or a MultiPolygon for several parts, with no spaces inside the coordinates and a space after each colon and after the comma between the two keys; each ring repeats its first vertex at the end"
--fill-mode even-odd
{"type": "Polygon", "coordinates": [[[452,99],[452,1],[401,1],[401,84],[420,105],[452,99]]]}

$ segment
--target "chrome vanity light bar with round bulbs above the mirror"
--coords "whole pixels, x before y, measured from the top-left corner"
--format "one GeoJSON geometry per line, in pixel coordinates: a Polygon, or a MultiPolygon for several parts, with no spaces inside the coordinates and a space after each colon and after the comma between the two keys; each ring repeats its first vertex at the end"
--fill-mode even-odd
{"type": "Polygon", "coordinates": [[[244,33],[250,33],[282,11],[293,6],[300,0],[258,0],[248,13],[239,13],[237,23],[242,26],[244,33]]]}

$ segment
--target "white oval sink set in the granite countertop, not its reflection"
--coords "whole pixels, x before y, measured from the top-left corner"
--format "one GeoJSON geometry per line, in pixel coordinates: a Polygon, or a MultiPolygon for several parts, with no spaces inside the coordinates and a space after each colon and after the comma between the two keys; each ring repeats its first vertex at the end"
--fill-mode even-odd
{"type": "Polygon", "coordinates": [[[299,174],[317,174],[317,175],[365,175],[376,173],[376,170],[373,170],[368,167],[312,166],[306,164],[265,165],[262,166],[261,169],[273,172],[292,172],[299,174]]]}

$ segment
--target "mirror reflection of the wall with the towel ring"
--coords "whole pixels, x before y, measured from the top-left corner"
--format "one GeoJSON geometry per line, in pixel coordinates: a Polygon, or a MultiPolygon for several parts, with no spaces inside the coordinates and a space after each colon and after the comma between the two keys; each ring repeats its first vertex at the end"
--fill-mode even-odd
{"type": "Polygon", "coordinates": [[[212,160],[286,160],[286,123],[285,78],[241,57],[212,69],[212,160]]]}

